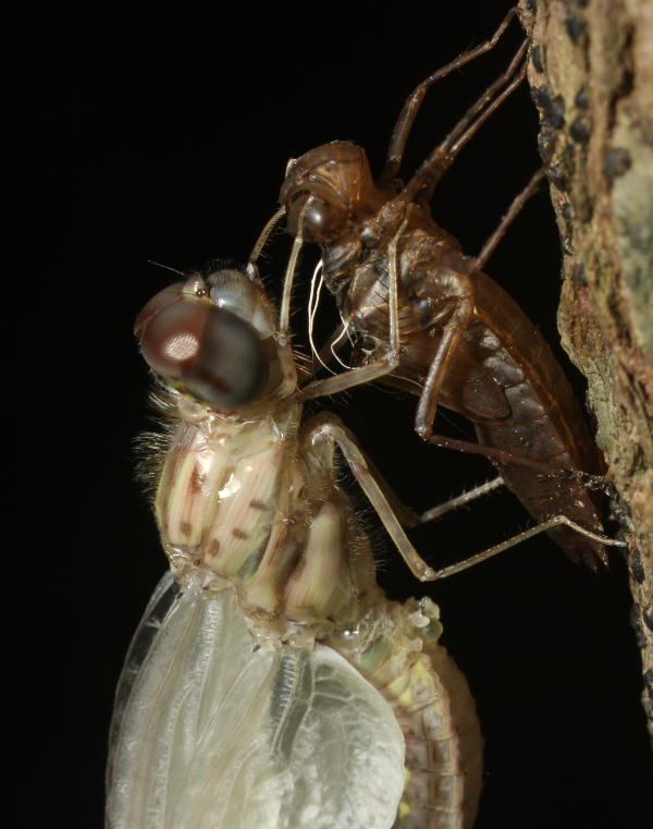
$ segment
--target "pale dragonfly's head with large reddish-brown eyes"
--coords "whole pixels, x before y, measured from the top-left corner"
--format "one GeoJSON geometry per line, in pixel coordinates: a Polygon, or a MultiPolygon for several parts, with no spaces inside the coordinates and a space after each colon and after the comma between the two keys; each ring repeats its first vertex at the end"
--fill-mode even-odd
{"type": "Polygon", "coordinates": [[[274,312],[256,268],[192,275],[153,296],[134,333],[150,368],[212,409],[244,409],[280,385],[274,312]]]}

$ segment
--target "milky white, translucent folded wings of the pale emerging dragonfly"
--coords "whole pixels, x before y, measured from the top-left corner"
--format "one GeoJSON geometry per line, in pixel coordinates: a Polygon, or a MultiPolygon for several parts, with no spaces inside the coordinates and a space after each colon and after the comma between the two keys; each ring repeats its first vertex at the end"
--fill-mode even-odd
{"type": "Polygon", "coordinates": [[[390,829],[404,737],[334,650],[255,650],[231,590],[165,577],[119,685],[108,783],[108,829],[390,829]]]}

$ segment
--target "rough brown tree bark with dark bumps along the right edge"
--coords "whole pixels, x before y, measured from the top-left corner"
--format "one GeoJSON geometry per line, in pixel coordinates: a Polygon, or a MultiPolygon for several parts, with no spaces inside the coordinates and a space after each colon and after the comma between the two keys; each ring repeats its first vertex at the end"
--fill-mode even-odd
{"type": "Polygon", "coordinates": [[[619,493],[653,734],[653,4],[520,0],[563,244],[558,327],[619,493]]]}

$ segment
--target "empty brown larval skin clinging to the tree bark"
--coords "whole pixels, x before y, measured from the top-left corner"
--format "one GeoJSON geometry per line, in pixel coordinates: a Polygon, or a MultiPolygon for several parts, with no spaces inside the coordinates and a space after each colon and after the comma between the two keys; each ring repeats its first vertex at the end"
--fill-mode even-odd
{"type": "Polygon", "coordinates": [[[377,179],[364,149],[352,142],[325,144],[288,163],[281,191],[288,232],[299,242],[320,245],[323,281],[354,341],[355,367],[316,381],[305,397],[372,380],[418,394],[415,428],[424,440],[489,456],[501,472],[498,483],[538,521],[552,522],[546,528],[566,552],[595,566],[606,561],[603,542],[575,532],[568,520],[601,531],[588,480],[602,472],[602,461],[551,349],[517,303],[482,272],[543,171],[478,257],[466,256],[429,209],[434,187],[457,153],[522,81],[527,41],[397,191],[408,133],[427,89],[492,48],[513,14],[490,40],[414,90],[377,179]],[[469,418],[480,446],[434,435],[439,404],[469,418]],[[565,474],[569,471],[575,472],[565,474]]]}

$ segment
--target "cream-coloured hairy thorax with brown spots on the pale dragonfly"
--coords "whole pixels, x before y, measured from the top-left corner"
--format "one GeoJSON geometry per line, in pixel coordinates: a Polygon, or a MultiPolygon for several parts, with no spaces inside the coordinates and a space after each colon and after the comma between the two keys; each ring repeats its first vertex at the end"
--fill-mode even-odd
{"type": "Polygon", "coordinates": [[[201,571],[208,589],[235,585],[262,637],[320,637],[375,596],[369,541],[331,459],[298,451],[299,414],[288,402],[258,420],[182,419],[156,500],[176,580],[201,571]]]}

